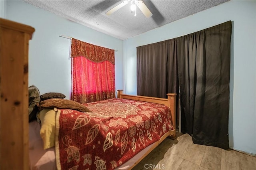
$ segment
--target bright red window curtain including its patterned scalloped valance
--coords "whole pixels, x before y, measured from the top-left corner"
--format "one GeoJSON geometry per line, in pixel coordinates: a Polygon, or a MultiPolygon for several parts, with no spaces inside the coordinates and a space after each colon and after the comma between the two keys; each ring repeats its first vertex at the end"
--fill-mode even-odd
{"type": "Polygon", "coordinates": [[[89,103],[115,98],[114,50],[72,39],[71,99],[89,103]]]}

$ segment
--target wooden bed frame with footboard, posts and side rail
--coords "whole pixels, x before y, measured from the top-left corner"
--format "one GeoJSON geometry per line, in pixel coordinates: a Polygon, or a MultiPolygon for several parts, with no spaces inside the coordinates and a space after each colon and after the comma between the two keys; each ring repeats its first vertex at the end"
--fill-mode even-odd
{"type": "Polygon", "coordinates": [[[172,117],[172,124],[174,127],[174,131],[169,131],[160,140],[152,144],[152,147],[145,153],[143,156],[138,159],[133,166],[129,167],[129,170],[134,168],[143,158],[145,158],[156,146],[158,146],[165,138],[169,137],[171,139],[176,138],[176,94],[175,93],[168,93],[167,94],[167,99],[164,98],[158,98],[158,97],[146,97],[146,96],[137,96],[137,95],[125,95],[123,94],[123,90],[117,90],[117,98],[120,99],[131,99],[131,100],[137,100],[137,101],[146,101],[150,103],[157,103],[157,104],[162,104],[166,105],[170,108],[171,111],[171,117],[172,117]]]}

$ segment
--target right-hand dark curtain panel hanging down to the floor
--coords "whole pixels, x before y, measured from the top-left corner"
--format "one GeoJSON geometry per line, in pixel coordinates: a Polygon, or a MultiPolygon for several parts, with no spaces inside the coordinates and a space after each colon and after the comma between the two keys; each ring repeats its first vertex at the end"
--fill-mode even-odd
{"type": "Polygon", "coordinates": [[[231,22],[177,38],[182,132],[228,149],[231,22]]]}

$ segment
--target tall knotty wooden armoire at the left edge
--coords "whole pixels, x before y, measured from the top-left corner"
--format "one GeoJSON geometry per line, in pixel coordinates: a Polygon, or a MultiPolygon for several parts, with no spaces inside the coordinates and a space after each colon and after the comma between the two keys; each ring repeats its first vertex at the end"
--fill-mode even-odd
{"type": "Polygon", "coordinates": [[[28,42],[31,26],[0,20],[0,169],[28,170],[28,42]]]}

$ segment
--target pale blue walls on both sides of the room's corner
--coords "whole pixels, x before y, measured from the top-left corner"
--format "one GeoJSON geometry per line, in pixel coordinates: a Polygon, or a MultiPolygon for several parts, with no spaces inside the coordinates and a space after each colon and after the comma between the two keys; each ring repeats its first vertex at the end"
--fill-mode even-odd
{"type": "Polygon", "coordinates": [[[36,29],[29,49],[29,85],[70,94],[70,40],[116,49],[116,89],[136,95],[136,47],[232,21],[230,147],[256,154],[256,1],[230,1],[121,41],[22,1],[1,1],[1,17],[36,29]],[[6,3],[6,4],[5,4],[6,3]],[[2,11],[4,6],[4,11],[2,11]]]}

